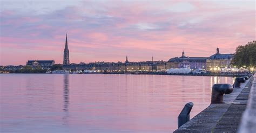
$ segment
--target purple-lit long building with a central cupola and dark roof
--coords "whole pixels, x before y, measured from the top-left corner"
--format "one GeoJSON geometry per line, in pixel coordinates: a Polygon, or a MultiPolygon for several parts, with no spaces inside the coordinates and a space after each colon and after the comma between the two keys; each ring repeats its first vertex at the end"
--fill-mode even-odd
{"type": "Polygon", "coordinates": [[[186,57],[183,51],[181,57],[171,58],[166,62],[166,69],[185,67],[190,67],[191,69],[205,69],[206,59],[206,57],[186,57]]]}

